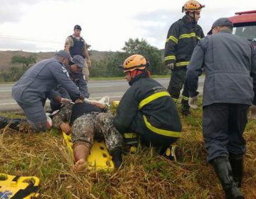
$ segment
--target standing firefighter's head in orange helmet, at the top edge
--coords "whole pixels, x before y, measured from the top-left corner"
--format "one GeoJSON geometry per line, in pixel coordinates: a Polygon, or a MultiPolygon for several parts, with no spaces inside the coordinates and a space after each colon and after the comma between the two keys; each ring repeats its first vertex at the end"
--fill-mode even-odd
{"type": "Polygon", "coordinates": [[[190,16],[197,23],[200,18],[201,9],[204,7],[198,1],[187,1],[182,7],[182,12],[185,12],[187,16],[190,16]]]}

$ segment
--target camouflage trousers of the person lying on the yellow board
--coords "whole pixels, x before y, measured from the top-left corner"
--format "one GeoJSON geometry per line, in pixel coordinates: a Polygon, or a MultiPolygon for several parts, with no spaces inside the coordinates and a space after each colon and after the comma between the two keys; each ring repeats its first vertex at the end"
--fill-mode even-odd
{"type": "Polygon", "coordinates": [[[73,146],[86,144],[92,147],[94,139],[105,139],[109,151],[116,147],[122,147],[123,138],[114,127],[114,117],[107,112],[92,112],[75,119],[72,126],[73,146]]]}

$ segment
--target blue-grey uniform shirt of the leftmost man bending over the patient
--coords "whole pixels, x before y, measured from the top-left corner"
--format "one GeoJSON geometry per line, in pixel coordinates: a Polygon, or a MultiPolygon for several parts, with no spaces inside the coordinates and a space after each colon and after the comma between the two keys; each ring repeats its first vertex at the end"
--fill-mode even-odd
{"type": "Polygon", "coordinates": [[[68,72],[56,58],[42,60],[29,68],[11,90],[16,102],[34,104],[46,98],[50,90],[58,84],[68,90],[72,99],[81,97],[74,82],[70,81],[68,72]]]}

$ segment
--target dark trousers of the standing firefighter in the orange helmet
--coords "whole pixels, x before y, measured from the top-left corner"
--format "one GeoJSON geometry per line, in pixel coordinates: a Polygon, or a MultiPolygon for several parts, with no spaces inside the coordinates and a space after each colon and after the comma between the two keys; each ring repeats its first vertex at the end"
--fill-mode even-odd
{"type": "Polygon", "coordinates": [[[168,92],[171,95],[171,98],[174,99],[174,102],[178,101],[178,98],[180,96],[181,89],[183,87],[182,92],[182,99],[181,99],[181,109],[189,109],[188,105],[188,87],[186,85],[186,67],[182,68],[174,68],[174,70],[171,71],[171,80],[169,82],[168,86],[168,92]]]}

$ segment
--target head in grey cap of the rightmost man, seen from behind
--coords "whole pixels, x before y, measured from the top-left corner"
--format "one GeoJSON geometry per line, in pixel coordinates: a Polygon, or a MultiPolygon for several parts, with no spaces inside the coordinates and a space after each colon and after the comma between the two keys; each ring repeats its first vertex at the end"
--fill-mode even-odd
{"type": "Polygon", "coordinates": [[[219,33],[221,30],[228,30],[232,32],[233,23],[228,18],[218,18],[216,21],[214,21],[208,35],[219,33]]]}

